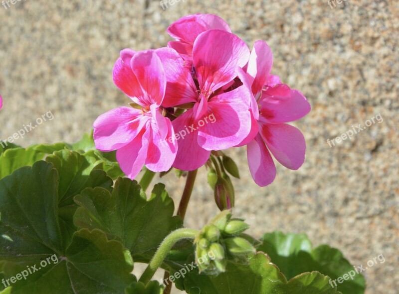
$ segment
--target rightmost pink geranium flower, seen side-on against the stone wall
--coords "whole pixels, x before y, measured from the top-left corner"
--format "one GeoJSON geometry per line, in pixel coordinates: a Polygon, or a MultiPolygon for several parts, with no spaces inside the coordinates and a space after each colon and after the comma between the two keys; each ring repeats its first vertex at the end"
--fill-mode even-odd
{"type": "Polygon", "coordinates": [[[270,75],[273,57],[264,41],[257,41],[249,58],[247,74],[255,100],[252,100],[252,129],[258,130],[247,145],[249,170],[261,187],[271,184],[276,167],[270,152],[283,166],[297,170],[305,160],[305,138],[286,122],[304,117],[310,111],[307,99],[297,90],[281,84],[270,75]],[[270,152],[269,152],[270,151],[270,152]]]}

